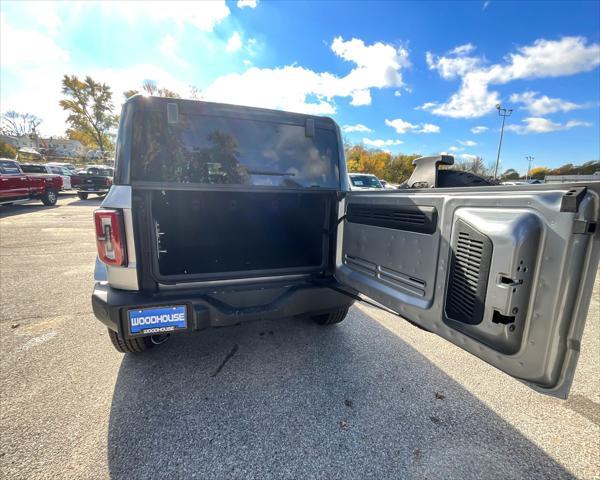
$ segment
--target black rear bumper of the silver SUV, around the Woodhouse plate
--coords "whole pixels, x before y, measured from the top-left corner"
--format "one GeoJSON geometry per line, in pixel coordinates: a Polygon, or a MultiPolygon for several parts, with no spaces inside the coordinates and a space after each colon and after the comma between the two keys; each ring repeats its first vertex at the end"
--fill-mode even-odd
{"type": "Polygon", "coordinates": [[[127,311],[130,308],[186,305],[188,328],[185,331],[225,327],[253,320],[275,320],[318,315],[354,303],[347,295],[330,287],[336,283],[315,285],[278,285],[197,293],[144,294],[129,292],[97,283],[92,294],[92,308],[98,320],[109,329],[129,337],[127,311]]]}

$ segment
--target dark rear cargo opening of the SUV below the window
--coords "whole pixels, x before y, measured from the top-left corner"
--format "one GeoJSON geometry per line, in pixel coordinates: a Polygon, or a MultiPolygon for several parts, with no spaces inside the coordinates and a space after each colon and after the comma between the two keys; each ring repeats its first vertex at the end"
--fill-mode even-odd
{"type": "Polygon", "coordinates": [[[159,278],[318,272],[329,261],[335,192],[154,190],[159,278]]]}

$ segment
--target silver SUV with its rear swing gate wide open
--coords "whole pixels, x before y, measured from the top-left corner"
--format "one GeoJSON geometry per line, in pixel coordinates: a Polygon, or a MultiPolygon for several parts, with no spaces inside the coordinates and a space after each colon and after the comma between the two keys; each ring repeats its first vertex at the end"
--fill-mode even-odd
{"type": "Polygon", "coordinates": [[[92,295],[118,351],[257,319],[335,324],[368,297],[566,397],[600,183],[449,188],[457,174],[438,190],[437,166],[453,162],[438,156],[404,189],[351,191],[329,118],[134,96],[121,119],[92,295]]]}

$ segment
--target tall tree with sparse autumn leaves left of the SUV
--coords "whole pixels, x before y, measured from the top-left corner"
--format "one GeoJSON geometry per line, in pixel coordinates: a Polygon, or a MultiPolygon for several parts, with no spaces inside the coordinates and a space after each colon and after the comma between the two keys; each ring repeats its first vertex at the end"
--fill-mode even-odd
{"type": "Polygon", "coordinates": [[[96,82],[90,76],[79,80],[75,75],[65,75],[62,93],[66,98],[60,101],[60,106],[69,112],[69,138],[79,136],[82,139],[93,139],[93,145],[100,150],[102,156],[107,150],[112,150],[109,132],[116,127],[118,115],[113,114],[110,87],[96,82]]]}

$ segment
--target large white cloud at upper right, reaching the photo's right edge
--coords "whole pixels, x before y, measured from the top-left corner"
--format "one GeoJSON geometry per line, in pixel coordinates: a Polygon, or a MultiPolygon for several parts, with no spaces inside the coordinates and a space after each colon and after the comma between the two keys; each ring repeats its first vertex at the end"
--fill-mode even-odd
{"type": "MultiPolygon", "coordinates": [[[[460,47],[458,47],[460,48],[460,47]]],[[[513,80],[560,77],[588,72],[600,64],[600,44],[588,45],[584,37],[563,37],[560,40],[536,40],[511,53],[504,63],[484,65],[479,57],[450,54],[426,55],[427,64],[442,78],[461,79],[459,90],[446,102],[426,108],[435,115],[452,118],[477,118],[494,110],[500,101],[490,85],[513,80]]]]}

